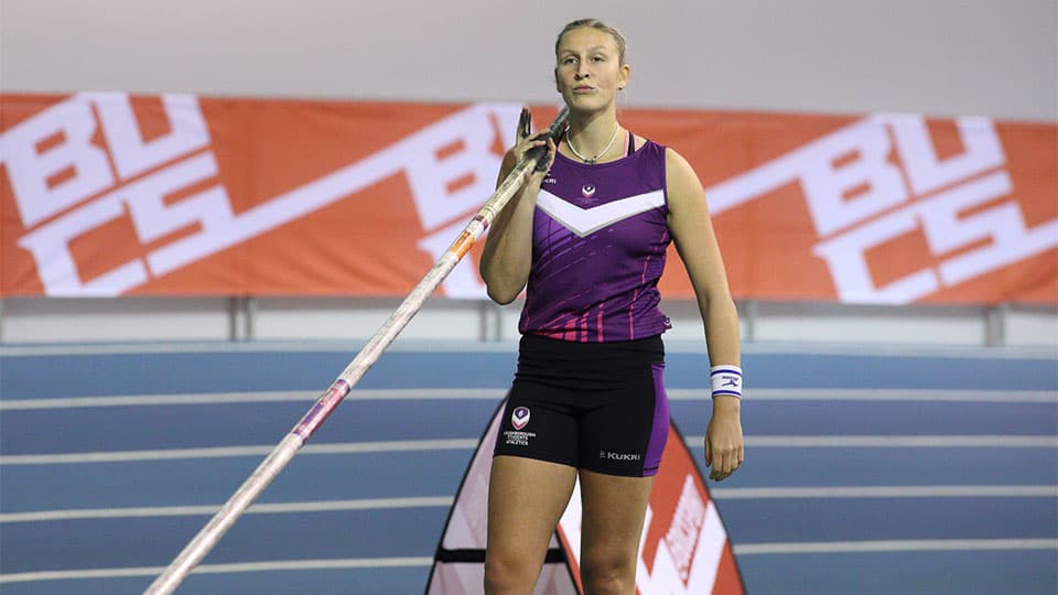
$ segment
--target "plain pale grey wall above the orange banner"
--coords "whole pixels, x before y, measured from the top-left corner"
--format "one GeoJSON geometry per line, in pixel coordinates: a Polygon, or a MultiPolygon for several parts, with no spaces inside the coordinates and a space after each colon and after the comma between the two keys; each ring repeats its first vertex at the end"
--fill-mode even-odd
{"type": "Polygon", "coordinates": [[[548,102],[551,44],[629,40],[626,105],[1058,119],[1055,0],[0,0],[7,91],[548,102]]]}

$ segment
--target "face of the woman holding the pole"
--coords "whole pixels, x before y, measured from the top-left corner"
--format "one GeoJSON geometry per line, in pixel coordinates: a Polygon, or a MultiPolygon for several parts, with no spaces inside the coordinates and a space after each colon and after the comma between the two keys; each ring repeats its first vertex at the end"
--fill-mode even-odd
{"type": "Polygon", "coordinates": [[[607,109],[628,83],[630,68],[620,64],[617,42],[605,31],[582,26],[566,32],[555,57],[555,87],[570,109],[607,109]]]}

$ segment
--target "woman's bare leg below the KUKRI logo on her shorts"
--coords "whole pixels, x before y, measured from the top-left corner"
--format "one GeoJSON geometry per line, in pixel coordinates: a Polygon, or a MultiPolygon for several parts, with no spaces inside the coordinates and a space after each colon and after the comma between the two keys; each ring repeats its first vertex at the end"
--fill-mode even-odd
{"type": "Polygon", "coordinates": [[[635,595],[639,538],[654,477],[580,473],[584,593],[635,595]]]}

